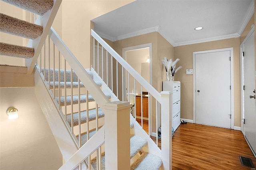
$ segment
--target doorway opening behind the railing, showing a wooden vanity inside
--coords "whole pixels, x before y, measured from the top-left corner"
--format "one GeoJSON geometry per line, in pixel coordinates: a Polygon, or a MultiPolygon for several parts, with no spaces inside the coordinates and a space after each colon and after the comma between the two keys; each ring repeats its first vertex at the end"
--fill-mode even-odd
{"type": "MultiPolygon", "coordinates": [[[[134,70],[136,70],[149,84],[152,85],[152,43],[130,46],[122,49],[122,57],[134,70]]],[[[152,124],[152,110],[148,109],[148,91],[132,75],[123,73],[126,100],[134,105],[132,115],[140,121],[148,121],[152,124]],[[135,100],[136,98],[136,100],[135,100]]],[[[151,101],[150,101],[151,102],[151,101]]],[[[137,120],[138,121],[138,120],[137,120]]],[[[152,127],[149,126],[149,134],[152,134],[152,127]]]]}

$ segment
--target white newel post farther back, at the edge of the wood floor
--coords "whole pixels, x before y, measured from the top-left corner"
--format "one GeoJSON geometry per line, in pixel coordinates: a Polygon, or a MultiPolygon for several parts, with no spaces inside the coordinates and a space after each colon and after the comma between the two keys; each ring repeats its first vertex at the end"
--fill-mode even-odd
{"type": "Polygon", "coordinates": [[[172,92],[161,93],[161,150],[164,170],[172,169],[172,92]]]}

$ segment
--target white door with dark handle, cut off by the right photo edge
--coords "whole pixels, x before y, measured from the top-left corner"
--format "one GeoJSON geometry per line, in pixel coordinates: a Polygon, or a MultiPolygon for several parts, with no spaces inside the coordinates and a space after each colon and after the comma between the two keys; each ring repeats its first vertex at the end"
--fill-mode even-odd
{"type": "Polygon", "coordinates": [[[244,137],[256,156],[256,105],[253,97],[255,95],[254,31],[248,34],[242,48],[244,51],[244,137]]]}

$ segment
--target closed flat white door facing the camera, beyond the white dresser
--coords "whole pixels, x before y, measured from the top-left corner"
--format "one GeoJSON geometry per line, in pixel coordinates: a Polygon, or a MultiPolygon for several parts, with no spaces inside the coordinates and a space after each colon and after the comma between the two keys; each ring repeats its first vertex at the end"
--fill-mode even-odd
{"type": "Polygon", "coordinates": [[[230,50],[194,55],[196,123],[231,128],[230,50]]]}

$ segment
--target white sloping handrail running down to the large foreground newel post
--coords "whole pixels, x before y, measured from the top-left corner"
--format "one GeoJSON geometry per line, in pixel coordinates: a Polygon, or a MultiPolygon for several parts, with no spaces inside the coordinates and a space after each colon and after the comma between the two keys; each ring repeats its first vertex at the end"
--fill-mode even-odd
{"type": "Polygon", "coordinates": [[[94,82],[94,80],[90,77],[90,75],[86,72],[82,64],[76,59],[74,54],[69,50],[66,44],[62,41],[60,36],[56,33],[56,31],[51,27],[49,31],[49,36],[56,45],[56,47],[61,52],[62,56],[68,62],[70,67],[74,70],[76,75],[80,78],[81,82],[86,86],[86,89],[90,91],[90,94],[97,101],[100,108],[105,105],[105,103],[109,102],[109,99],[105,96],[105,94],[98,88],[98,85],[94,82]]]}

